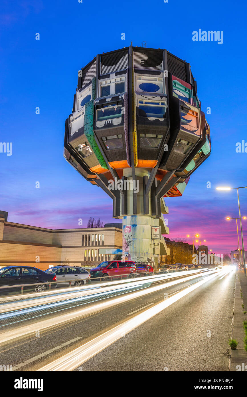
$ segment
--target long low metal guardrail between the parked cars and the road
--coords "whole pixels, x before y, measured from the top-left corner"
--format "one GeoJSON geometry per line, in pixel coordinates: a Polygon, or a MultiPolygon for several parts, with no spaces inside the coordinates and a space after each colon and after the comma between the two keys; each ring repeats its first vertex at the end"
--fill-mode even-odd
{"type": "MultiPolygon", "coordinates": [[[[188,269],[188,272],[190,272],[191,270],[200,270],[200,269],[203,269],[203,268],[207,268],[207,266],[201,266],[201,268],[196,268],[196,269],[188,269]]],[[[152,273],[152,276],[155,276],[155,275],[157,275],[157,274],[171,274],[171,273],[179,273],[179,272],[184,272],[184,271],[187,271],[187,270],[184,270],[184,269],[174,269],[174,270],[172,270],[172,272],[167,272],[167,270],[163,270],[162,268],[161,268],[161,270],[157,270],[157,271],[153,271],[153,272],[141,272],[141,273],[130,273],[130,274],[133,274],[134,275],[134,278],[136,278],[136,277],[138,277],[138,276],[140,276],[140,277],[144,277],[144,276],[150,276],[150,273],[152,273]]],[[[117,278],[120,278],[121,280],[123,280],[123,279],[126,279],[126,278],[129,278],[129,276],[130,276],[130,274],[118,274],[117,276],[104,276],[104,277],[93,277],[92,279],[90,278],[90,279],[82,279],[82,281],[86,281],[86,284],[88,284],[89,282],[92,282],[93,280],[97,280],[97,281],[100,281],[100,283],[102,282],[102,279],[105,279],[105,278],[107,278],[107,281],[113,281],[113,279],[117,279],[117,278]]],[[[50,281],[50,282],[48,282],[48,281],[46,281],[46,282],[40,282],[40,283],[30,283],[30,284],[15,284],[15,285],[2,285],[2,286],[0,286],[0,291],[2,290],[2,289],[9,289],[9,288],[20,288],[21,289],[21,295],[23,295],[23,289],[24,289],[24,287],[32,287],[32,286],[34,286],[34,285],[47,285],[48,286],[48,290],[50,290],[51,289],[51,285],[52,284],[61,284],[61,283],[67,283],[67,282],[69,282],[69,287],[71,287],[71,283],[72,282],[75,282],[75,280],[66,280],[66,281],[50,281]]]]}

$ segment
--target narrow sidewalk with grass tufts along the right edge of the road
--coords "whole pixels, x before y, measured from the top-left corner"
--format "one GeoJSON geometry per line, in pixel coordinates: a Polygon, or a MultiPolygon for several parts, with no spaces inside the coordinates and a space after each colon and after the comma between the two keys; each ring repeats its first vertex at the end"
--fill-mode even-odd
{"type": "MultiPolygon", "coordinates": [[[[247,277],[245,277],[243,270],[241,272],[237,270],[232,338],[237,339],[239,344],[237,346],[237,350],[231,350],[230,371],[236,371],[237,365],[241,367],[241,370],[247,370],[247,352],[244,349],[243,343],[243,338],[245,337],[243,320],[247,320],[247,316],[243,313],[244,310],[247,311],[247,277]],[[241,298],[240,290],[242,291],[243,299],[241,298]],[[244,305],[244,308],[242,307],[242,304],[244,305]]],[[[239,369],[239,367],[237,368],[239,369]]]]}

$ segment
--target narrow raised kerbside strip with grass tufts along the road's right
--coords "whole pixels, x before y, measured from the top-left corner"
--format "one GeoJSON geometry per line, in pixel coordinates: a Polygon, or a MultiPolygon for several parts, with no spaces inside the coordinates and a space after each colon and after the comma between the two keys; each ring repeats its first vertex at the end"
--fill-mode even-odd
{"type": "Polygon", "coordinates": [[[232,326],[232,339],[237,339],[239,342],[237,349],[231,349],[231,359],[230,359],[230,371],[236,372],[236,366],[240,366],[240,370],[245,370],[245,365],[247,364],[247,353],[244,349],[243,338],[245,337],[245,332],[243,329],[243,320],[245,320],[245,314],[243,314],[243,299],[241,298],[241,284],[240,280],[236,274],[235,282],[235,299],[234,299],[234,315],[233,315],[233,326],[232,326]],[[244,365],[243,365],[244,363],[244,365]]]}

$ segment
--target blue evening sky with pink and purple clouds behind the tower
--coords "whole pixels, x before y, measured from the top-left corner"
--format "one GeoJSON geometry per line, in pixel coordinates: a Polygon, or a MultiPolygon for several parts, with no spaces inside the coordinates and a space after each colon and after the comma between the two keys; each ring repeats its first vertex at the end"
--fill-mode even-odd
{"type": "MultiPolygon", "coordinates": [[[[90,216],[114,222],[111,199],[63,158],[65,119],[78,69],[96,54],[146,40],[190,62],[202,109],[211,108],[211,156],[183,196],[166,201],[170,237],[199,233],[214,252],[236,249],[235,223],[225,220],[238,216],[236,191],[215,187],[247,185],[247,153],[236,153],[236,143],[247,142],[246,8],[222,0],[2,1],[0,142],[12,142],[13,154],[0,153],[0,209],[8,220],[51,228],[79,227],[79,218],[86,226],[90,216]],[[223,44],[193,42],[198,29],[223,31],[223,44]]],[[[247,216],[247,190],[240,200],[247,216]]]]}

